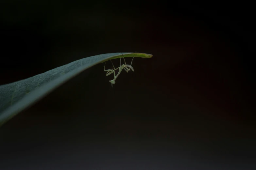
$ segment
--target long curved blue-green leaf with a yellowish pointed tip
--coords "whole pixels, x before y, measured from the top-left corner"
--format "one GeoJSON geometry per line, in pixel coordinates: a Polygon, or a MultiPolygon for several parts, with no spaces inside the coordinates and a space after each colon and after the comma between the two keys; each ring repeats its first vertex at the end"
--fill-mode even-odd
{"type": "Polygon", "coordinates": [[[151,58],[145,53],[109,53],[83,58],[45,73],[0,86],[0,126],[87,68],[121,57],[151,58]]]}

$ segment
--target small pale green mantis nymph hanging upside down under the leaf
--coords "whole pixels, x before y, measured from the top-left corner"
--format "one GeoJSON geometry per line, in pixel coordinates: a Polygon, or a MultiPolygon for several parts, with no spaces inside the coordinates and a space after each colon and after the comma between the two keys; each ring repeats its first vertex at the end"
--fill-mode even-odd
{"type": "MultiPolygon", "coordinates": [[[[124,55],[123,55],[123,56],[124,56],[124,55]]],[[[123,57],[123,58],[124,58],[124,57],[123,57]]],[[[133,58],[134,58],[134,57],[133,57],[133,58]]],[[[132,60],[133,60],[133,58],[132,58],[132,60]]],[[[131,60],[131,64],[132,64],[132,60],[131,60]]],[[[111,61],[111,60],[110,60],[110,61],[111,61]]],[[[125,58],[124,58],[124,61],[125,61],[125,58]]],[[[111,63],[112,63],[112,61],[111,61],[111,63]]],[[[106,65],[106,62],[105,62],[105,65],[106,65]]],[[[109,81],[109,82],[111,82],[112,85],[115,84],[116,78],[119,76],[119,74],[121,73],[121,71],[122,71],[123,69],[124,69],[127,73],[128,73],[128,71],[130,71],[130,70],[134,71],[133,67],[132,67],[131,65],[126,64],[126,62],[125,62],[125,64],[122,64],[122,65],[121,65],[121,58],[120,58],[120,65],[119,65],[119,67],[117,67],[117,68],[115,68],[115,67],[114,67],[114,64],[112,63],[113,68],[112,68],[112,69],[105,70],[105,65],[104,65],[104,71],[107,72],[106,76],[109,76],[109,75],[111,75],[112,73],[114,73],[114,79],[112,79],[112,80],[109,81]],[[115,70],[117,70],[117,69],[119,69],[119,70],[118,70],[117,75],[115,75],[115,70]]]]}

